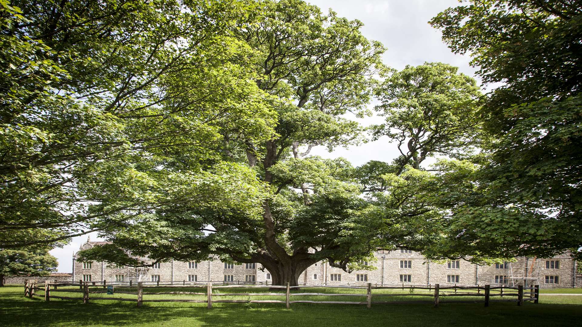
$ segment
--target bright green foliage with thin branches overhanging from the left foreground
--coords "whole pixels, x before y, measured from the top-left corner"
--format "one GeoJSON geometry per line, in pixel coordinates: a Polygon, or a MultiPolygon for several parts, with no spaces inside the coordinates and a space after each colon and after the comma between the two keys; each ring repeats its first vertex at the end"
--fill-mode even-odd
{"type": "Polygon", "coordinates": [[[245,182],[224,152],[271,137],[276,116],[232,31],[254,3],[2,5],[0,247],[257,194],[220,182],[245,182]]]}

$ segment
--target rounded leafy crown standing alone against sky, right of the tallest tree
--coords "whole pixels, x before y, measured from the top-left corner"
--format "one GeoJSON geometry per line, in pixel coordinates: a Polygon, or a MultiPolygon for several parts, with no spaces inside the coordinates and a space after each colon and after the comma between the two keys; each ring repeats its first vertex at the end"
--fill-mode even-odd
{"type": "Polygon", "coordinates": [[[397,174],[435,155],[466,158],[481,146],[483,96],[477,82],[457,70],[443,63],[407,65],[377,88],[375,109],[385,123],[370,127],[372,140],[388,136],[398,143],[397,174]]]}

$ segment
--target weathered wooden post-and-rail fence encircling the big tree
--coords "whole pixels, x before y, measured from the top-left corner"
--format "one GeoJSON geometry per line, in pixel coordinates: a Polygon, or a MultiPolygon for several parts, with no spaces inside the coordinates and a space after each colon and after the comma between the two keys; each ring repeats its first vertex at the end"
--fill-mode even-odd
{"type": "MultiPolygon", "coordinates": [[[[34,296],[42,297],[45,301],[51,300],[51,298],[58,298],[61,300],[82,300],[84,304],[88,304],[90,300],[113,300],[113,301],[133,301],[137,303],[138,307],[141,307],[144,302],[193,302],[193,303],[206,303],[208,308],[212,308],[212,303],[280,303],[285,304],[286,308],[290,308],[293,303],[315,303],[315,304],[365,304],[368,308],[371,308],[372,304],[403,304],[403,303],[430,303],[434,304],[435,307],[439,307],[442,303],[483,303],[485,307],[488,307],[490,303],[494,302],[516,302],[517,305],[523,305],[524,301],[533,301],[533,303],[538,303],[540,298],[540,286],[531,285],[528,288],[527,293],[524,293],[524,287],[519,285],[517,287],[491,287],[490,285],[483,286],[444,286],[441,287],[439,284],[434,286],[372,286],[372,283],[367,283],[366,286],[346,286],[346,285],[303,285],[303,286],[276,286],[276,285],[212,285],[212,282],[207,283],[196,283],[190,285],[173,285],[167,284],[165,282],[155,282],[154,285],[147,285],[144,282],[137,282],[134,286],[133,283],[120,284],[115,282],[110,282],[106,284],[103,282],[83,282],[79,283],[50,283],[48,281],[44,282],[44,287],[37,287],[37,280],[27,280],[24,283],[24,296],[33,298],[34,296]],[[131,294],[136,296],[135,298],[129,297],[91,297],[90,294],[94,293],[107,293],[104,290],[107,285],[112,288],[113,293],[121,294],[131,294]],[[54,287],[51,289],[51,286],[54,287]],[[59,289],[59,286],[79,286],[80,289],[59,289]],[[205,292],[171,292],[169,290],[161,290],[161,292],[151,292],[150,289],[164,289],[180,287],[181,289],[204,289],[205,292]],[[291,293],[292,289],[308,289],[311,287],[319,288],[331,288],[331,289],[362,289],[366,290],[365,293],[313,293],[313,292],[303,292],[303,293],[291,293]],[[116,289],[117,288],[117,289],[116,289]],[[220,289],[223,288],[269,288],[269,289],[284,289],[283,292],[269,292],[269,293],[220,293],[220,289]],[[130,289],[130,290],[127,290],[130,289]],[[135,291],[133,291],[134,289],[135,291]],[[408,293],[372,293],[374,289],[407,289],[408,293]],[[35,290],[43,290],[44,294],[36,294],[35,290]],[[213,291],[218,290],[218,293],[213,291]],[[415,293],[415,290],[428,290],[429,293],[415,293]],[[432,290],[434,292],[430,293],[432,290]],[[481,290],[484,291],[481,293],[481,290]],[[499,293],[491,294],[491,290],[498,290],[499,293]],[[149,292],[148,292],[149,291],[149,292]],[[459,292],[457,292],[459,291],[459,292]],[[476,291],[476,292],[475,292],[476,291]],[[516,292],[517,291],[517,292],[516,292]],[[66,292],[66,293],[83,293],[81,297],[69,297],[69,296],[56,296],[54,293],[66,292]],[[150,299],[149,295],[159,295],[159,294],[188,294],[188,295],[199,295],[205,296],[205,300],[201,299],[187,299],[187,298],[161,298],[161,299],[150,299]],[[527,296],[529,295],[529,296],[527,296]],[[145,296],[145,298],[144,298],[145,296]],[[281,296],[285,297],[285,300],[228,300],[221,299],[223,296],[281,296]],[[313,300],[293,300],[296,296],[356,296],[365,297],[365,301],[313,301],[313,300]],[[410,300],[410,301],[372,301],[372,297],[432,297],[432,300],[410,300]],[[218,297],[215,298],[215,297],[218,297]],[[448,297],[477,297],[475,300],[447,300],[448,297]],[[491,299],[492,297],[501,297],[499,300],[491,299]],[[505,297],[505,298],[503,298],[505,297]]],[[[153,291],[153,290],[152,290],[153,291]]]]}

